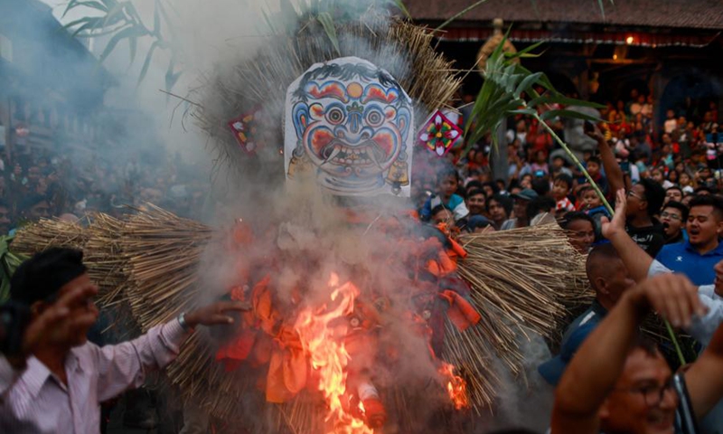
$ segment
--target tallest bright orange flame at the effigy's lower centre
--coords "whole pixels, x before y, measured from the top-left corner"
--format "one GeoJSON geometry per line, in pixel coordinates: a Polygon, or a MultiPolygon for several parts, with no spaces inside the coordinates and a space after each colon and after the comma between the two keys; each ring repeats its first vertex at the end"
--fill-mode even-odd
{"type": "Polygon", "coordinates": [[[333,325],[335,319],[352,314],[359,289],[351,282],[339,286],[339,277],[335,273],[329,279],[329,288],[333,289],[331,300],[336,307],[329,309],[324,304],[318,309],[305,308],[296,320],[295,329],[318,376],[318,389],[326,401],[324,419],[328,433],[373,434],[373,429],[367,427],[364,420],[352,414],[346,390],[346,368],[350,356],[343,344],[347,330],[345,326],[333,325]]]}

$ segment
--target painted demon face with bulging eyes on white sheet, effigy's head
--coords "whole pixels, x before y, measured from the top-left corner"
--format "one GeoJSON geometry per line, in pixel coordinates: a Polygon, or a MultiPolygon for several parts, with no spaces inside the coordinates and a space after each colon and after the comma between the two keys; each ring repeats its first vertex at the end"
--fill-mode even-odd
{"type": "Polygon", "coordinates": [[[355,57],[317,63],[286,92],[286,176],[314,170],[338,195],[409,195],[412,104],[355,57]]]}

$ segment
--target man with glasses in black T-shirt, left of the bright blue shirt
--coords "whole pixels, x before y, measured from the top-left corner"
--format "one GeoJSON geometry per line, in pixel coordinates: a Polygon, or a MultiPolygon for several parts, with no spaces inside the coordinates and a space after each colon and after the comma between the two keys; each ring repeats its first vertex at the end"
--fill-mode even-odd
{"type": "Polygon", "coordinates": [[[665,191],[651,179],[634,184],[626,197],[626,231],[645,252],[655,256],[665,244],[662,224],[655,215],[661,211],[665,191]]]}

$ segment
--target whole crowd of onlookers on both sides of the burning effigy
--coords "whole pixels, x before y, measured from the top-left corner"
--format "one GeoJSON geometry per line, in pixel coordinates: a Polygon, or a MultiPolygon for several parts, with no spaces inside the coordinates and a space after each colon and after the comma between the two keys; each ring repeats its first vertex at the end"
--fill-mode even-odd
{"type": "MultiPolygon", "coordinates": [[[[433,177],[413,185],[419,219],[453,229],[449,233],[556,222],[587,255],[595,300],[568,325],[558,354],[539,366],[540,376],[557,388],[555,434],[723,429],[718,111],[711,105],[689,119],[668,110],[656,127],[653,107],[653,99],[636,91],[627,103],[608,104],[601,113],[607,122],[584,127],[595,144],[581,153],[585,171],[557,152],[540,126],[516,118],[507,135],[508,181],[493,179],[489,144],[481,144],[465,156],[452,153],[433,177]],[[697,360],[671,366],[639,335],[652,311],[695,339],[697,360]]],[[[564,137],[561,122],[553,127],[564,137]]],[[[160,167],[130,160],[121,167],[28,154],[4,163],[4,232],[51,215],[78,219],[90,211],[123,212],[124,203],[152,202],[185,215],[201,208],[203,199],[204,186],[184,181],[190,178],[177,160],[160,167]]],[[[99,402],[171,363],[196,325],[224,324],[230,321],[225,312],[249,309],[217,303],[135,341],[99,349],[85,337],[98,318],[91,301],[96,291],[76,250],[49,250],[15,273],[14,302],[34,310],[14,348],[2,348],[7,357],[0,358],[0,427],[51,432],[59,426],[43,424],[52,421],[68,429],[63,432],[97,432],[99,402]],[[67,387],[70,398],[57,399],[67,387]],[[89,417],[74,417],[79,411],[89,417]]]]}

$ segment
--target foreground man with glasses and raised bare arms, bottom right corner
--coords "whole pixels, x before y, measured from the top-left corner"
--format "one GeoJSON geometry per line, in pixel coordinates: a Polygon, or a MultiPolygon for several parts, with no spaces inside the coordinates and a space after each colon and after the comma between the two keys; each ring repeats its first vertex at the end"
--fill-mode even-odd
{"type": "Polygon", "coordinates": [[[684,276],[658,276],[626,291],[560,380],[552,434],[671,434],[676,424],[695,425],[720,400],[723,326],[695,363],[673,375],[662,354],[638,340],[650,311],[680,325],[705,315],[697,289],[684,276]]]}

